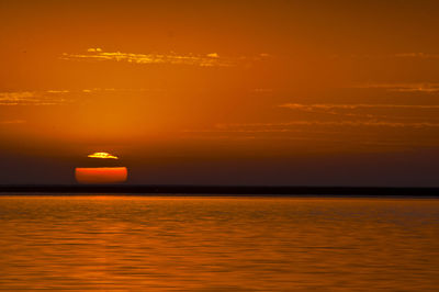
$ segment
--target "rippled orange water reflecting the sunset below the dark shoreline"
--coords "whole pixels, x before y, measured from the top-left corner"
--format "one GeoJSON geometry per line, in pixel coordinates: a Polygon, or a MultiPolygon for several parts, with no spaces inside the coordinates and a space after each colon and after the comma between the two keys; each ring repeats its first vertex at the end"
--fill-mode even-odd
{"type": "Polygon", "coordinates": [[[1,196],[0,290],[439,291],[439,200],[1,196]]]}

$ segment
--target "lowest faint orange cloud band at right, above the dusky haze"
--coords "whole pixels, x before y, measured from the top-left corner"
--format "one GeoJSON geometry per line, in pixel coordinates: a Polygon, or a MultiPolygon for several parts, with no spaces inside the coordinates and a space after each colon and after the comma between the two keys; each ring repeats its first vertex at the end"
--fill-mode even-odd
{"type": "Polygon", "coordinates": [[[212,141],[270,141],[275,142],[271,145],[286,147],[292,151],[370,151],[437,147],[439,139],[432,135],[437,128],[439,123],[296,120],[281,123],[217,124],[214,128],[185,130],[183,134],[190,138],[212,141]],[[416,138],[413,138],[414,133],[417,133],[416,138]]]}

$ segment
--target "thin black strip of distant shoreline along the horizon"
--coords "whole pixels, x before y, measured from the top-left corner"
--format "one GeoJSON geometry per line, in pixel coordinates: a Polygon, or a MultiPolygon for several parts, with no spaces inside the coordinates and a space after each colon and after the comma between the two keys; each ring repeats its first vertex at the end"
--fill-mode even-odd
{"type": "Polygon", "coordinates": [[[267,186],[0,186],[0,195],[143,194],[143,195],[266,195],[266,196],[414,196],[439,198],[439,188],[267,187],[267,186]]]}

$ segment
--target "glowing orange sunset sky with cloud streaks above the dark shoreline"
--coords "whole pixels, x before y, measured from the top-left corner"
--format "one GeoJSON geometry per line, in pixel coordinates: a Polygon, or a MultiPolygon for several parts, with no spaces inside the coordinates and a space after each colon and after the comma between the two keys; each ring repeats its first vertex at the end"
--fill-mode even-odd
{"type": "Polygon", "coordinates": [[[0,0],[0,184],[439,187],[437,1],[0,0]]]}

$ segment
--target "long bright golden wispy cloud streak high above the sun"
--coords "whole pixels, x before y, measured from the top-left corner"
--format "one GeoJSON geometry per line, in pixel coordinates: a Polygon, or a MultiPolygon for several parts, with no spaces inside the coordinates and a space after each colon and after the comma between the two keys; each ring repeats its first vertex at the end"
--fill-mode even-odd
{"type": "Polygon", "coordinates": [[[60,56],[65,60],[88,61],[126,61],[132,64],[172,64],[192,65],[200,67],[230,67],[236,66],[237,60],[219,56],[217,53],[200,54],[134,54],[122,52],[103,52],[101,48],[89,48],[85,54],[64,53],[60,56]]]}

